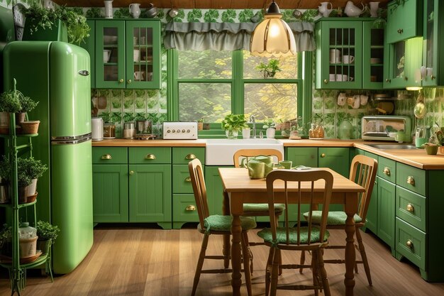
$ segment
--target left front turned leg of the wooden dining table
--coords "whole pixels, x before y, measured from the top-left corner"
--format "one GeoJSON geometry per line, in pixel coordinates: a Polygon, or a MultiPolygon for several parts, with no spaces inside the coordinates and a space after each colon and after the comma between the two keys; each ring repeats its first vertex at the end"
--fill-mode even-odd
{"type": "Polygon", "coordinates": [[[231,223],[231,267],[233,274],[231,275],[231,286],[233,287],[233,296],[240,296],[240,285],[242,279],[240,275],[240,236],[242,227],[240,226],[240,216],[233,214],[233,222],[231,223]]]}

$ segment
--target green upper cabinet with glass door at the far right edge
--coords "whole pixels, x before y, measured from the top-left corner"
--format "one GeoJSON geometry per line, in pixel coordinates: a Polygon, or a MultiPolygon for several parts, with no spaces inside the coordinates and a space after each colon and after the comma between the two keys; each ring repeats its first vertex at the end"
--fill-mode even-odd
{"type": "Polygon", "coordinates": [[[439,35],[444,30],[443,17],[443,1],[424,0],[423,62],[419,70],[423,87],[444,84],[444,59],[440,56],[444,49],[444,38],[439,35]]]}

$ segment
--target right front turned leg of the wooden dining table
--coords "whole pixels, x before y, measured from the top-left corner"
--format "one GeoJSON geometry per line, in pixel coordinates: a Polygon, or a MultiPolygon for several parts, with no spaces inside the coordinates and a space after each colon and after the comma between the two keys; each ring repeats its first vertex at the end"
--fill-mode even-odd
{"type": "Polygon", "coordinates": [[[347,193],[345,195],[345,295],[353,296],[353,288],[355,287],[355,220],[353,217],[357,212],[357,193],[347,193]]]}

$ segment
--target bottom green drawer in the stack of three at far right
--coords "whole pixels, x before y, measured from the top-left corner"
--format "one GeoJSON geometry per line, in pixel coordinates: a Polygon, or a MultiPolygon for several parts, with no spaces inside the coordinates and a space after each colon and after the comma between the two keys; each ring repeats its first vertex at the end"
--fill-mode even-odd
{"type": "MultiPolygon", "coordinates": [[[[426,234],[396,217],[396,253],[426,269],[426,234]]],[[[397,256],[398,257],[398,256],[397,256]]]]}

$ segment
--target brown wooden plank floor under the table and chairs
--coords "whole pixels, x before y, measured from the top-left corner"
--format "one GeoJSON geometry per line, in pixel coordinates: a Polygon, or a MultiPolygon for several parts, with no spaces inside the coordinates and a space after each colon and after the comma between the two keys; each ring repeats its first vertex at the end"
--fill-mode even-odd
{"type": "MultiPolygon", "coordinates": [[[[250,232],[251,241],[260,241],[250,232]]],[[[345,239],[343,231],[331,231],[331,243],[345,239]]],[[[396,261],[389,248],[374,238],[363,234],[367,257],[372,270],[373,286],[370,287],[360,265],[355,275],[355,295],[426,296],[444,295],[444,283],[427,283],[418,270],[404,261],[396,261]]],[[[142,226],[99,226],[94,230],[94,246],[79,267],[68,275],[55,278],[43,277],[36,270],[28,271],[28,285],[22,296],[189,296],[192,289],[194,268],[199,255],[201,234],[194,226],[181,230],[149,229],[142,226]]],[[[221,250],[218,236],[210,238],[208,253],[221,250]]],[[[253,295],[265,295],[264,262],[266,246],[254,246],[253,295]]],[[[339,254],[326,251],[326,258],[339,254]]],[[[299,261],[294,254],[283,254],[283,261],[299,261]]],[[[358,255],[359,256],[359,255],[358,255]]],[[[209,261],[209,266],[221,266],[220,261],[209,261]]],[[[344,266],[326,265],[333,296],[345,295],[344,266]]],[[[11,295],[5,270],[0,273],[0,295],[11,295]]],[[[201,275],[196,296],[231,295],[231,275],[201,275]]],[[[284,271],[281,283],[311,282],[311,270],[303,275],[284,271]]],[[[245,285],[241,292],[247,295],[245,285]]],[[[277,295],[313,295],[311,291],[278,291],[277,295]]],[[[321,293],[321,295],[323,295],[321,293]]]]}

